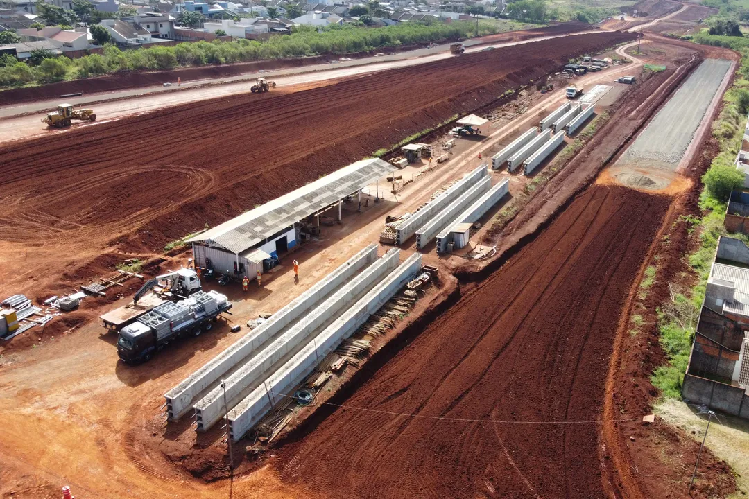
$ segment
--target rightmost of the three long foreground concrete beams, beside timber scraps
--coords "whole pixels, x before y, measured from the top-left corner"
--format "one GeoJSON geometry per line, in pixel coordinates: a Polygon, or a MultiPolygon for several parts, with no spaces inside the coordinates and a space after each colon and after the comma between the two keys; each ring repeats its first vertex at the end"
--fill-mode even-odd
{"type": "Polygon", "coordinates": [[[290,358],[275,373],[268,376],[263,385],[258,386],[236,407],[229,411],[229,436],[238,441],[252,426],[258,423],[277,402],[281,402],[288,391],[302,382],[315,370],[318,359],[338,348],[357,328],[377,312],[383,304],[395,296],[406,281],[421,269],[421,255],[412,254],[380,284],[343,313],[336,322],[325,328],[314,341],[290,358]]]}

